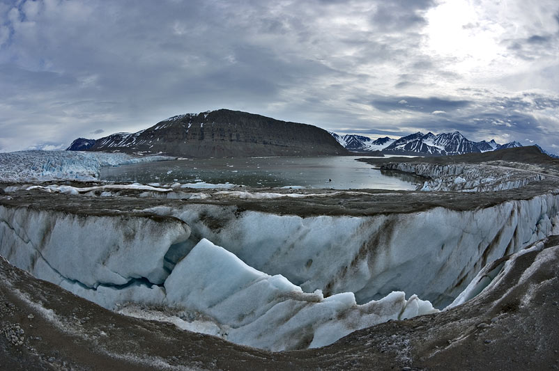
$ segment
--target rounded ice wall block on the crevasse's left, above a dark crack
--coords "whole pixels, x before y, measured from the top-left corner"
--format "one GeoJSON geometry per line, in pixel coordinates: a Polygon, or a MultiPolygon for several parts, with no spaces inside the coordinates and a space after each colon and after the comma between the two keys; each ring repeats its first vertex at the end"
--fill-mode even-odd
{"type": "Polygon", "coordinates": [[[166,254],[189,235],[190,228],[171,217],[0,206],[0,254],[58,285],[160,285],[169,275],[166,254]]]}

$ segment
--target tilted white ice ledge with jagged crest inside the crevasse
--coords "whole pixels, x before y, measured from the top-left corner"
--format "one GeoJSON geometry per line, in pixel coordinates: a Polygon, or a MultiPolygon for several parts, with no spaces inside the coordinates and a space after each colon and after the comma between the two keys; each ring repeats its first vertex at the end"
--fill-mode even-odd
{"type": "Polygon", "coordinates": [[[324,298],[279,274],[258,271],[208,239],[178,262],[164,283],[170,307],[194,310],[229,326],[227,339],[274,351],[322,347],[390,319],[436,313],[429,301],[392,292],[355,303],[353,292],[324,298]]]}

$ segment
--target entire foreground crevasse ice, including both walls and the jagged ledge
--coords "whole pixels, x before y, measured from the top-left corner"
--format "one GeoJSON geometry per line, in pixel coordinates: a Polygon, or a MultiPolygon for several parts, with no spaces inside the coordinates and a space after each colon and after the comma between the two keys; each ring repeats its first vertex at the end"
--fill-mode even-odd
{"type": "Polygon", "coordinates": [[[195,319],[185,328],[294,349],[432,310],[404,291],[442,308],[486,262],[557,233],[558,199],[307,218],[201,204],[141,216],[2,206],[0,253],[106,308],[185,310],[195,319]]]}

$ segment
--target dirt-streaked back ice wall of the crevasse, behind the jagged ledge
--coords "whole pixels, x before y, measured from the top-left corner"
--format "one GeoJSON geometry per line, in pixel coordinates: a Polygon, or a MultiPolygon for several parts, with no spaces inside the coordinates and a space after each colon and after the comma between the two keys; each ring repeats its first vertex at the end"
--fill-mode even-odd
{"type": "Polygon", "coordinates": [[[282,274],[305,292],[355,292],[358,303],[392,291],[443,308],[491,260],[559,232],[558,192],[493,207],[437,207],[375,216],[277,215],[220,205],[155,207],[251,267],[282,274]]]}

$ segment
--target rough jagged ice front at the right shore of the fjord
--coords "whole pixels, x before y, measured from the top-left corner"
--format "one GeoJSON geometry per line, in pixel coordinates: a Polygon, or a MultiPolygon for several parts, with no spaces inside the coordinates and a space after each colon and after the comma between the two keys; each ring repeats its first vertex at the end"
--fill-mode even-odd
{"type": "Polygon", "coordinates": [[[544,179],[544,175],[490,165],[390,163],[383,170],[414,173],[431,179],[420,186],[422,191],[503,191],[523,187],[544,179]]]}

